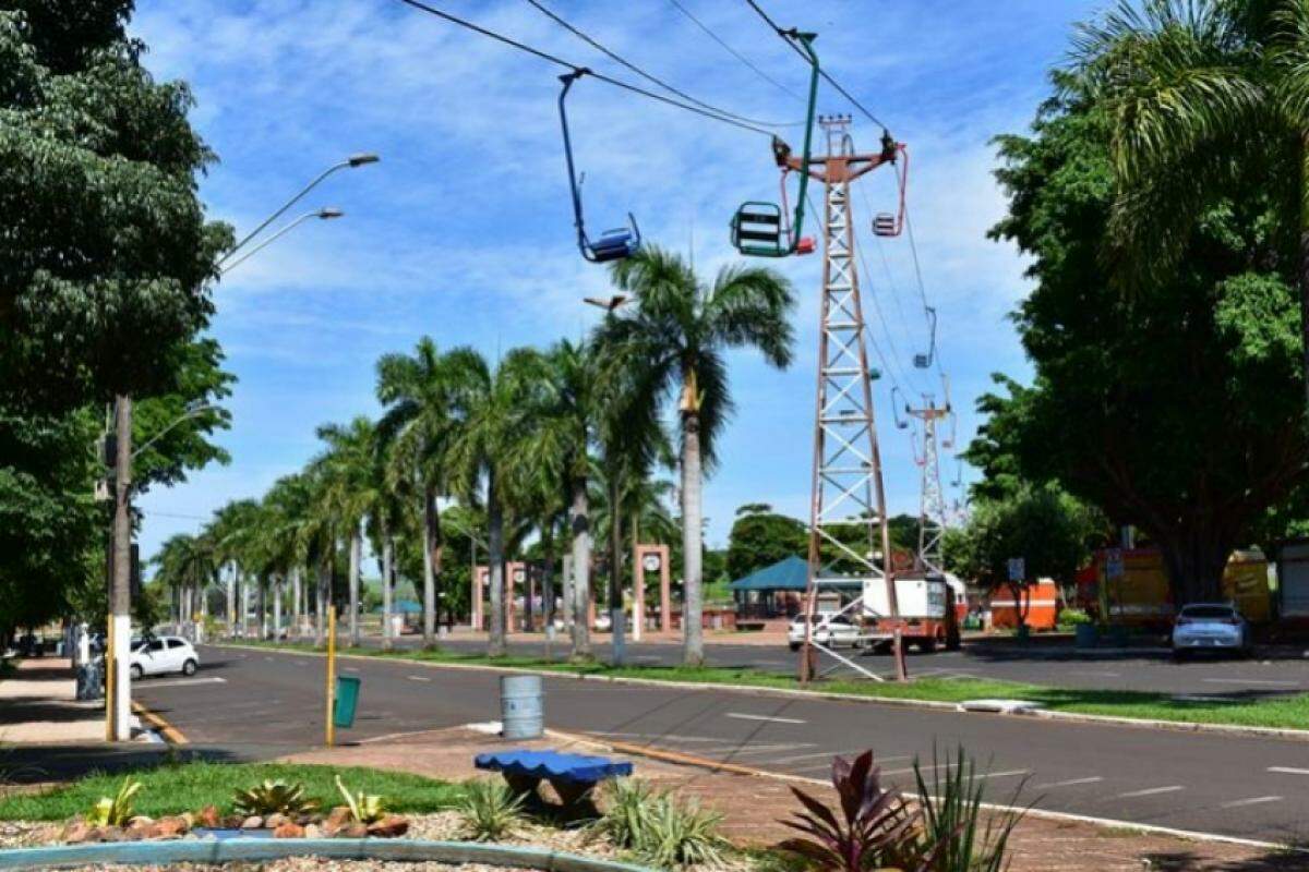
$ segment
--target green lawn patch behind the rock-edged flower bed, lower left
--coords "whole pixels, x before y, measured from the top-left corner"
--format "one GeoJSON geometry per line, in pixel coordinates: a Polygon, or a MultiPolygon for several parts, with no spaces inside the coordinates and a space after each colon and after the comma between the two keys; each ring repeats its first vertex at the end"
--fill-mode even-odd
{"type": "MultiPolygon", "coordinates": [[[[449,808],[461,794],[458,784],[439,782],[407,773],[376,769],[306,766],[293,763],[207,763],[165,765],[132,773],[141,782],[136,795],[136,813],[158,817],[198,812],[209,805],[232,811],[232,794],[253,787],[264,779],[301,783],[318,805],[330,809],[342,805],[332,778],[340,775],[351,791],[380,794],[393,812],[435,812],[449,808]]],[[[89,809],[101,796],[113,796],[126,775],[88,775],[42,794],[0,799],[0,820],[58,821],[89,809]]]]}

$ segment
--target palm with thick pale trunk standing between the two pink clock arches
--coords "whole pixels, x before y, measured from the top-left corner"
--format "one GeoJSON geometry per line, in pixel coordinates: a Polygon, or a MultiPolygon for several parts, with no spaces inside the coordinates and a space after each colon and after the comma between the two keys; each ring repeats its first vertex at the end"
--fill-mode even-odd
{"type": "Polygon", "coordinates": [[[572,579],[565,582],[565,621],[572,628],[572,658],[589,660],[593,529],[588,481],[592,475],[590,446],[601,420],[600,357],[590,343],[562,340],[545,353],[521,352],[522,363],[542,375],[530,394],[533,426],[524,443],[524,458],[537,471],[542,493],[558,489],[567,501],[568,535],[572,537],[572,579]],[[529,361],[529,354],[535,354],[529,361]]]}

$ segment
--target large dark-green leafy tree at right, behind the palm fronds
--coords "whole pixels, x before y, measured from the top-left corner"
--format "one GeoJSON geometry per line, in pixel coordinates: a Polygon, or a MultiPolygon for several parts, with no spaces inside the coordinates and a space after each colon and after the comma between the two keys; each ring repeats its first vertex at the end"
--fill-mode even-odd
{"type": "MultiPolygon", "coordinates": [[[[1072,73],[1031,136],[1000,137],[1009,213],[1031,258],[1016,323],[1030,386],[997,377],[967,460],[974,498],[1059,482],[1158,544],[1179,604],[1220,596],[1232,549],[1305,477],[1293,260],[1276,184],[1202,209],[1185,256],[1123,294],[1103,254],[1119,199],[1114,103],[1072,73]]],[[[1181,197],[1160,208],[1181,212],[1181,197]]]]}

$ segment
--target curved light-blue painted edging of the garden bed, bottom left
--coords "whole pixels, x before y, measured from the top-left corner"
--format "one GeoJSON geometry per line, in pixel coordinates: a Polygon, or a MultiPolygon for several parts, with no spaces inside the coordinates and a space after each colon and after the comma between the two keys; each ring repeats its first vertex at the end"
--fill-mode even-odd
{"type": "Polygon", "coordinates": [[[420,839],[224,839],[58,845],[0,851],[0,869],[59,869],[99,863],[233,863],[322,856],[335,860],[436,860],[550,872],[649,872],[644,867],[533,847],[420,839]]]}

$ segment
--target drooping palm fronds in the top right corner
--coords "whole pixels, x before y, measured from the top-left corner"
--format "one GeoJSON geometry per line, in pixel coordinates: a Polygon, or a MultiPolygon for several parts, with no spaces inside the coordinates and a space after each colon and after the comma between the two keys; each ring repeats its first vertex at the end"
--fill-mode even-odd
{"type": "Polygon", "coordinates": [[[1208,207],[1274,180],[1299,246],[1309,414],[1309,4],[1122,0],[1077,51],[1113,118],[1110,231],[1128,280],[1168,275],[1208,207]]]}

